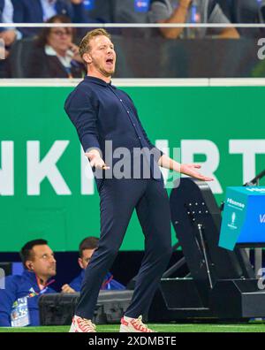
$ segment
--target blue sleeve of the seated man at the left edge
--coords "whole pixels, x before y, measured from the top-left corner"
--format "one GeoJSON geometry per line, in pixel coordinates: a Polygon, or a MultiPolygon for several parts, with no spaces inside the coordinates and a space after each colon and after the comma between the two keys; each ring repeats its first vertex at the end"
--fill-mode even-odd
{"type": "Polygon", "coordinates": [[[11,327],[11,308],[17,300],[17,284],[14,277],[5,278],[4,289],[0,289],[0,327],[11,327]]]}

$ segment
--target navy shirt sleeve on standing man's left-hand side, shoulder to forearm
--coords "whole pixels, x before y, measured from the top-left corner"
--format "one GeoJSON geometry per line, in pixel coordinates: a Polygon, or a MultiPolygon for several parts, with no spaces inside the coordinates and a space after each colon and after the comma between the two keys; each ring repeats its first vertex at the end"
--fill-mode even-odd
{"type": "Polygon", "coordinates": [[[64,110],[76,127],[84,151],[86,152],[88,148],[100,150],[96,126],[97,113],[89,95],[80,89],[74,90],[67,98],[64,110]]]}

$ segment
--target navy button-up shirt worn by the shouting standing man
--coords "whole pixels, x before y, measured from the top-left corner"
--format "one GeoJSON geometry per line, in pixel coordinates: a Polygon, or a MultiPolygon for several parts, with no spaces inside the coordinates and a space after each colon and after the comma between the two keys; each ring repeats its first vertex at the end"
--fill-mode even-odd
{"type": "MultiPolygon", "coordinates": [[[[131,155],[132,174],[135,160],[133,148],[152,149],[153,158],[148,162],[149,175],[163,180],[157,165],[157,160],[163,153],[149,141],[133,101],[124,91],[111,83],[87,76],[68,96],[64,109],[76,127],[85,151],[88,148],[100,149],[102,158],[111,168],[111,165],[115,165],[119,160],[113,158],[115,149],[127,148],[131,155]],[[105,141],[112,141],[112,154],[105,148],[105,141]],[[109,163],[110,157],[112,164],[109,163]]],[[[106,178],[109,176],[107,172],[104,173],[106,178]]],[[[100,188],[102,179],[98,179],[98,173],[95,172],[95,180],[100,188]]],[[[103,178],[104,174],[101,174],[103,178]]]]}

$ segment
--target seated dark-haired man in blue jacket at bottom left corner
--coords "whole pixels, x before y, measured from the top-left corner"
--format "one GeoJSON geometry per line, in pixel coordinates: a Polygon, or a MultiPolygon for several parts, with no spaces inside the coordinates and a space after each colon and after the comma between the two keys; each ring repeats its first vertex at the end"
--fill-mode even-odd
{"type": "Polygon", "coordinates": [[[7,276],[0,289],[0,326],[23,327],[40,324],[38,301],[43,293],[56,293],[57,262],[47,240],[31,240],[22,247],[22,275],[7,276]]]}

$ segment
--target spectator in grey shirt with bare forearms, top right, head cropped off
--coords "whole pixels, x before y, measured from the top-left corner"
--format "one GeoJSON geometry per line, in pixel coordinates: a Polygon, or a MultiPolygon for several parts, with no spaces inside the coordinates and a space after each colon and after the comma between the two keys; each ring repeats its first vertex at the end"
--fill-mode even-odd
{"type": "MultiPolygon", "coordinates": [[[[153,0],[149,18],[157,23],[230,23],[216,0],[153,0]]],[[[160,28],[168,39],[203,38],[207,28],[160,28]]],[[[211,28],[211,34],[220,38],[239,38],[235,28],[211,28]]]]}

